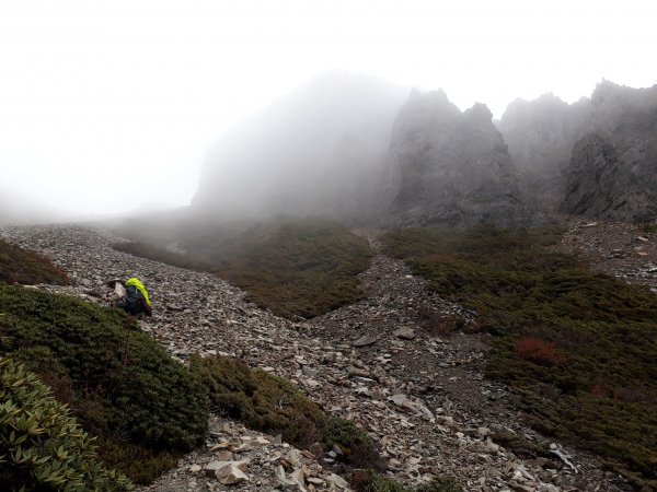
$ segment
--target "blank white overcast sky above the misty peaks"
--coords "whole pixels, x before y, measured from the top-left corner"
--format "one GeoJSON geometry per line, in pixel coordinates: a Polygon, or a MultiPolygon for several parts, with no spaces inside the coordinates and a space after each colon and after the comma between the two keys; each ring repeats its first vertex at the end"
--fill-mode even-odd
{"type": "Polygon", "coordinates": [[[223,130],[327,69],[496,117],[602,78],[653,85],[656,19],[632,0],[0,0],[0,189],[76,212],[187,204],[223,130]]]}

